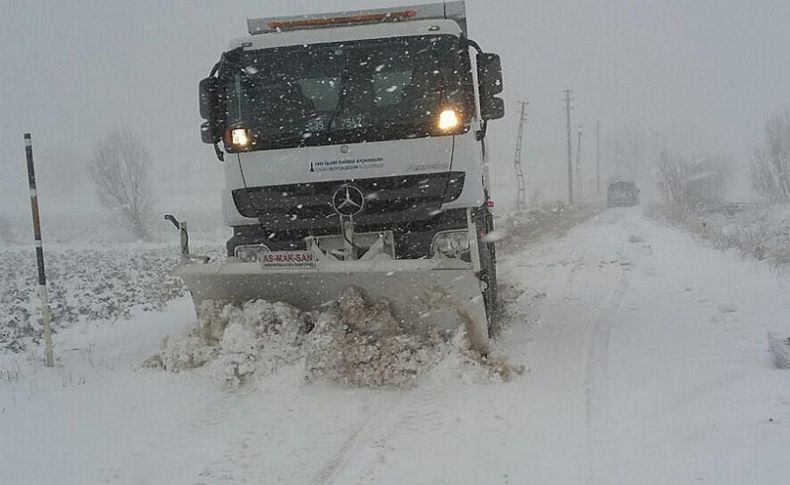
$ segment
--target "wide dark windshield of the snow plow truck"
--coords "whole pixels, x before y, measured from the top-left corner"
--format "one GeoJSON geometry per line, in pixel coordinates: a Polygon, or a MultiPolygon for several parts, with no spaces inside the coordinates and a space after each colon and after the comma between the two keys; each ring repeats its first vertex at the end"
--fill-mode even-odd
{"type": "Polygon", "coordinates": [[[227,127],[258,150],[431,136],[447,108],[465,131],[474,109],[468,51],[448,35],[236,51],[220,77],[227,127]]]}

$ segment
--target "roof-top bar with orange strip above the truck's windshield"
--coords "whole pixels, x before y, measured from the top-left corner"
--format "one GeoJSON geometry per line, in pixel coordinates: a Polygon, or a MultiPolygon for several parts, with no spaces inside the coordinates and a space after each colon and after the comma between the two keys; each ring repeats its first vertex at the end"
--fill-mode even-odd
{"type": "Polygon", "coordinates": [[[247,19],[250,35],[294,30],[325,29],[351,25],[398,23],[427,19],[451,19],[466,32],[466,6],[462,1],[389,7],[349,12],[332,12],[290,17],[247,19]]]}

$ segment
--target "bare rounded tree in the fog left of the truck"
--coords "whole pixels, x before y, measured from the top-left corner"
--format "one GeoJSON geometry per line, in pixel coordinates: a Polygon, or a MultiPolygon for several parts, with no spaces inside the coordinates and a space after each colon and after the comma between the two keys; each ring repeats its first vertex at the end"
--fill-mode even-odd
{"type": "Polygon", "coordinates": [[[116,129],[96,144],[89,167],[99,200],[119,211],[140,239],[149,235],[153,210],[151,163],[151,155],[134,134],[116,129]]]}

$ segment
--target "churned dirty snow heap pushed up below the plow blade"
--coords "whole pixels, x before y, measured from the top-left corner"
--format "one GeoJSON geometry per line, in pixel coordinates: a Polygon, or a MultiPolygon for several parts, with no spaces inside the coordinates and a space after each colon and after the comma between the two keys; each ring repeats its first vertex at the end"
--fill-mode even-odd
{"type": "Polygon", "coordinates": [[[204,302],[198,325],[165,338],[161,352],[143,365],[174,372],[203,368],[228,387],[301,365],[307,380],[406,389],[452,347],[446,332],[415,332],[386,302],[370,301],[352,287],[317,312],[262,300],[204,302]]]}

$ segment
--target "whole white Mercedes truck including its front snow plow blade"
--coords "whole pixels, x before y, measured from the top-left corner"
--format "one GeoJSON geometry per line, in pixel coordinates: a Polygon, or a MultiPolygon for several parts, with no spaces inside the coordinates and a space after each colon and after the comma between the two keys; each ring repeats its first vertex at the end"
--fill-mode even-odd
{"type": "MultiPolygon", "coordinates": [[[[228,258],[176,269],[204,300],[311,310],[355,287],[488,351],[496,306],[488,122],[499,56],[463,2],[247,21],[200,81],[224,162],[228,258]]],[[[179,226],[175,219],[173,222],[179,226]]]]}

